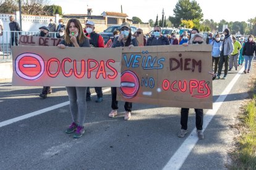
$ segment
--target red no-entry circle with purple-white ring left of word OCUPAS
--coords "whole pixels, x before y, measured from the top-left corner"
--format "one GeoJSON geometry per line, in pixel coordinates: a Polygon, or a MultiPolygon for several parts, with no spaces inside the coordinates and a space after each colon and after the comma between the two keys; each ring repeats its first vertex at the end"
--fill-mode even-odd
{"type": "Polygon", "coordinates": [[[44,69],[45,62],[37,54],[20,54],[15,60],[15,71],[23,79],[37,79],[43,75],[44,69]]]}

